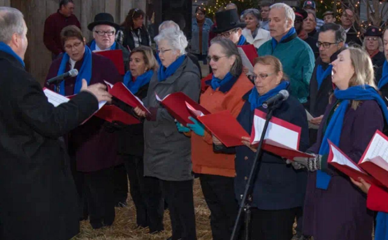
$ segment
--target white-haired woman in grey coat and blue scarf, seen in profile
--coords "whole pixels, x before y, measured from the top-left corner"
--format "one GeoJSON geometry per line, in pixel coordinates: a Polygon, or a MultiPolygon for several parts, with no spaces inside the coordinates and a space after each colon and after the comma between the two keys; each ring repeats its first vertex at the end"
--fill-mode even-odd
{"type": "MultiPolygon", "coordinates": [[[[187,39],[182,31],[168,28],[154,38],[158,44],[161,66],[149,83],[144,105],[135,112],[144,121],[144,175],[158,178],[170,210],[171,239],[196,240],[193,203],[193,179],[190,138],[178,132],[175,119],[156,99],[170,93],[183,92],[198,102],[199,69],[187,57],[187,39]]],[[[159,194],[161,199],[161,194],[159,194]]]]}

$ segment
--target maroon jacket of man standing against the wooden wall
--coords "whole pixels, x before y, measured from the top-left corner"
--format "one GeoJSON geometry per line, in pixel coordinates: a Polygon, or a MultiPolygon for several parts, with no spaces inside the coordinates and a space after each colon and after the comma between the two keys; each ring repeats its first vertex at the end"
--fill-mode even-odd
{"type": "Polygon", "coordinates": [[[81,29],[80,22],[74,14],[65,17],[59,13],[58,9],[56,13],[47,17],[43,32],[43,43],[53,54],[58,55],[64,52],[61,43],[61,31],[69,25],[75,25],[81,29]]]}

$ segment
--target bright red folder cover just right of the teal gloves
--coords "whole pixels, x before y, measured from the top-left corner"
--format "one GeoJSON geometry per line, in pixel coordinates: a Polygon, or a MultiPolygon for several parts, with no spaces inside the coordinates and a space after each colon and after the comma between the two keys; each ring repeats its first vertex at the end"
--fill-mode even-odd
{"type": "Polygon", "coordinates": [[[207,129],[211,131],[226,147],[235,147],[242,144],[242,137],[249,134],[237,122],[229,111],[221,111],[198,117],[207,129]]]}

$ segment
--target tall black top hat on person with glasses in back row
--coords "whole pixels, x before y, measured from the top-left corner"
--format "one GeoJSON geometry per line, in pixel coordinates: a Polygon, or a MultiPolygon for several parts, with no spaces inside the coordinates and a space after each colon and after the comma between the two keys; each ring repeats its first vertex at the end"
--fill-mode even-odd
{"type": "Polygon", "coordinates": [[[240,16],[237,9],[225,10],[216,12],[217,27],[214,28],[214,33],[223,33],[234,28],[245,28],[246,23],[240,22],[240,16]]]}

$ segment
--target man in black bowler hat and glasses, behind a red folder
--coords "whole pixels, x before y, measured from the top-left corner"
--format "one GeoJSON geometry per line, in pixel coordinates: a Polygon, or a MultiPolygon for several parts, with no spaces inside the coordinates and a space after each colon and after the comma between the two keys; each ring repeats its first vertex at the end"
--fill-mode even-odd
{"type": "Polygon", "coordinates": [[[92,51],[117,50],[123,51],[125,72],[129,69],[129,51],[123,45],[114,40],[116,29],[120,26],[114,22],[113,16],[106,12],[101,12],[94,17],[94,22],[88,25],[88,29],[93,32],[94,40],[87,45],[92,51]]]}

